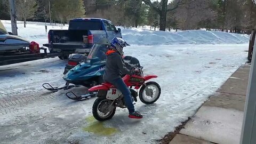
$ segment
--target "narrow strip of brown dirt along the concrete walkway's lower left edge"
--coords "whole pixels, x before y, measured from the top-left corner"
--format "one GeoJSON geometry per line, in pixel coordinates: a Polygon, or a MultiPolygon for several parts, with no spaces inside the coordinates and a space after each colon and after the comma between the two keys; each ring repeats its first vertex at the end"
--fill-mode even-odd
{"type": "Polygon", "coordinates": [[[185,124],[189,121],[190,118],[191,117],[189,117],[187,119],[187,121],[182,122],[181,125],[175,127],[174,132],[169,132],[168,134],[166,134],[164,136],[163,139],[158,140],[158,143],[160,143],[160,144],[168,144],[168,143],[170,143],[170,141],[175,137],[175,135],[178,134],[180,132],[180,130],[184,128],[185,124]]]}

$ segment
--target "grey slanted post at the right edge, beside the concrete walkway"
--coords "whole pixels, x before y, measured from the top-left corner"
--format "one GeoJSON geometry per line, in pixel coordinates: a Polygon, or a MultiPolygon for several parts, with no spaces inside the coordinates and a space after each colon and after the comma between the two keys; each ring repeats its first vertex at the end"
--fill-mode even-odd
{"type": "MultiPolygon", "coordinates": [[[[254,41],[254,48],[256,48],[256,41],[254,41]]],[[[256,141],[256,49],[252,55],[240,144],[254,144],[256,141]]]]}

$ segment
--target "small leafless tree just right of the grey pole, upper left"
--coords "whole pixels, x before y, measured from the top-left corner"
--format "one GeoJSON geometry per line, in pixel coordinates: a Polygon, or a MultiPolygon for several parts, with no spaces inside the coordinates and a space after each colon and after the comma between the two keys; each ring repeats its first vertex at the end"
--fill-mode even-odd
{"type": "Polygon", "coordinates": [[[24,21],[24,27],[26,28],[27,19],[34,18],[38,5],[35,0],[18,0],[15,1],[18,19],[24,21]]]}

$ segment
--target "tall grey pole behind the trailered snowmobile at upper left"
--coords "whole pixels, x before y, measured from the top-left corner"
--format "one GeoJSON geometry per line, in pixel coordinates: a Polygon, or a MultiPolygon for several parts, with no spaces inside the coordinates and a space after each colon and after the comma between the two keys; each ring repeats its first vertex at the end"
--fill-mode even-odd
{"type": "Polygon", "coordinates": [[[9,3],[10,3],[10,15],[11,15],[11,23],[12,23],[12,34],[18,35],[15,2],[14,2],[14,0],[9,0],[9,3]]]}

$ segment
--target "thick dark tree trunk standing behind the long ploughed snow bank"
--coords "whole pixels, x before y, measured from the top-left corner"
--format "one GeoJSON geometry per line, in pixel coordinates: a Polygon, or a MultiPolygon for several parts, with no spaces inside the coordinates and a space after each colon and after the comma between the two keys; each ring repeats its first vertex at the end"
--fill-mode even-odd
{"type": "Polygon", "coordinates": [[[160,13],[160,25],[159,25],[159,30],[162,30],[162,31],[165,31],[166,29],[167,3],[168,3],[168,0],[162,0],[162,11],[160,13]]]}

